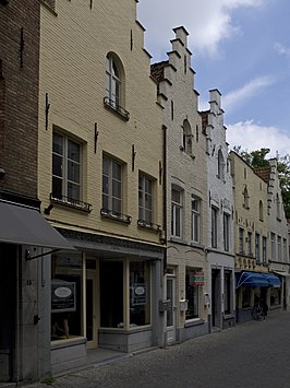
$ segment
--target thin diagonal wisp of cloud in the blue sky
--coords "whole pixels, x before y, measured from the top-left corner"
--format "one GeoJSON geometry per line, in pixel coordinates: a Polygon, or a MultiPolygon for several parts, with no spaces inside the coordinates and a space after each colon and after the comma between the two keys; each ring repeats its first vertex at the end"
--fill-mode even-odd
{"type": "Polygon", "coordinates": [[[245,85],[234,91],[229,92],[222,98],[222,105],[226,113],[230,113],[238,108],[244,101],[252,98],[264,87],[271,85],[275,82],[273,77],[259,77],[251,80],[245,85]]]}

